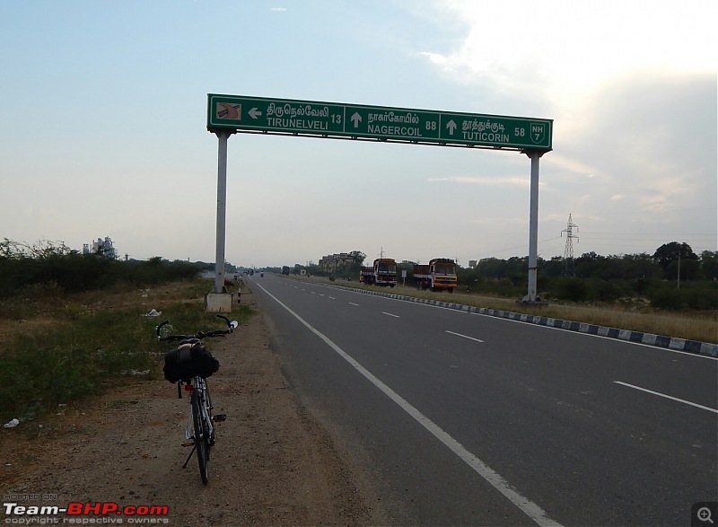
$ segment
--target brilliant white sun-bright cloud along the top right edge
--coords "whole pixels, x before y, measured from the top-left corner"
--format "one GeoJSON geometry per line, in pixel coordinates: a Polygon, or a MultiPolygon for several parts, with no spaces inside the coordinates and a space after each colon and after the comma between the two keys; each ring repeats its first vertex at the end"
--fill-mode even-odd
{"type": "Polygon", "coordinates": [[[459,83],[535,103],[580,103],[587,88],[636,68],[714,72],[714,0],[442,0],[436,13],[458,21],[459,36],[421,56],[459,83]]]}

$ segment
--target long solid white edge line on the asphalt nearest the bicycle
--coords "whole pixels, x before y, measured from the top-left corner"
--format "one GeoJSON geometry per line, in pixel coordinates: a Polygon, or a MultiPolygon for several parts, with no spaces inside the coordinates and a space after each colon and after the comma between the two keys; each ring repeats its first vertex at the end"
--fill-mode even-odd
{"type": "Polygon", "coordinates": [[[321,333],[319,329],[315,329],[314,327],[312,327],[309,322],[305,321],[297,313],[293,312],[289,307],[285,305],[285,303],[276,298],[274,294],[269,293],[267,289],[262,287],[262,285],[259,285],[259,287],[261,287],[265,293],[271,296],[276,301],[276,303],[285,308],[287,312],[290,312],[295,319],[302,322],[302,324],[306,326],[307,329],[317,335],[317,337],[321,338],[327,344],[328,347],[331,347],[335,352],[337,352],[337,354],[341,356],[344,360],[346,360],[347,363],[352,365],[357,372],[362,373],[362,375],[369,382],[372,382],[372,384],[376,386],[379,390],[381,390],[384,395],[389,397],[390,400],[393,400],[395,403],[397,403],[398,407],[407,412],[409,416],[413,417],[419,425],[424,426],[425,429],[428,430],[439,441],[441,441],[442,444],[447,446],[451,450],[451,452],[454,452],[457,456],[459,456],[461,461],[464,461],[471,469],[475,470],[479,476],[481,476],[483,479],[486,479],[486,481],[492,487],[494,487],[501,494],[503,494],[503,496],[508,498],[508,500],[511,501],[513,505],[521,509],[521,512],[529,516],[531,520],[538,523],[538,525],[541,525],[542,527],[547,527],[548,525],[556,525],[556,527],[561,527],[561,524],[557,523],[555,520],[550,519],[543,511],[543,509],[541,509],[541,507],[530,501],[530,499],[525,498],[524,496],[521,496],[521,494],[516,492],[509,485],[508,481],[503,479],[500,474],[498,474],[497,472],[495,472],[495,470],[486,465],[484,461],[478,459],[477,456],[475,456],[471,452],[468,452],[468,450],[464,448],[464,446],[460,444],[456,439],[444,432],[442,428],[436,425],[431,419],[426,417],[419,410],[411,406],[411,404],[409,404],[407,400],[404,400],[400,395],[398,395],[396,391],[391,390],[389,386],[377,379],[373,375],[373,373],[364,368],[363,365],[360,365],[358,362],[356,362],[353,357],[347,355],[341,347],[338,347],[334,342],[329,340],[329,338],[326,337],[323,333],[321,333]]]}

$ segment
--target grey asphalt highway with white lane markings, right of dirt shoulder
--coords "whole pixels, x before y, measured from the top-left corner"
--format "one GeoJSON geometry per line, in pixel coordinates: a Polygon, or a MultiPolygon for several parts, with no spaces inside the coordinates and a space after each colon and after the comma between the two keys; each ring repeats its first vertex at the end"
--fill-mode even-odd
{"type": "Polygon", "coordinates": [[[276,275],[250,288],[392,523],[690,525],[718,501],[712,357],[276,275]]]}

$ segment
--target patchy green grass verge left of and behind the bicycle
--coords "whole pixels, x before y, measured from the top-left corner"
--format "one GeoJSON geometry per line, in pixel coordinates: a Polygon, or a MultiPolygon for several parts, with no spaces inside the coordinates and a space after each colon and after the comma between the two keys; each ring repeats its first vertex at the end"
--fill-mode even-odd
{"type": "MultiPolygon", "coordinates": [[[[223,322],[207,313],[200,301],[208,285],[197,279],[162,290],[163,317],[171,321],[171,331],[222,327],[223,322]],[[165,298],[167,294],[172,297],[165,298]]],[[[136,291],[129,296],[118,294],[127,301],[103,303],[102,308],[92,300],[77,303],[94,295],[76,295],[68,302],[71,315],[60,306],[51,324],[31,325],[29,317],[22,330],[5,334],[0,348],[0,421],[39,417],[57,404],[101,393],[127,376],[154,379],[161,375],[161,357],[171,344],[157,343],[154,326],[159,320],[142,316],[146,308],[136,305],[136,295],[136,291]]],[[[30,306],[28,314],[37,311],[32,310],[35,301],[15,304],[30,306]]],[[[249,306],[232,309],[232,318],[240,322],[252,314],[249,306]]]]}

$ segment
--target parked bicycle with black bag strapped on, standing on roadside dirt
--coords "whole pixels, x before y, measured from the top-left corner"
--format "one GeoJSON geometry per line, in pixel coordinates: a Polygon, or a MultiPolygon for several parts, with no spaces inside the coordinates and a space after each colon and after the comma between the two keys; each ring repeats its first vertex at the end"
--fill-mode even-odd
{"type": "Polygon", "coordinates": [[[180,341],[178,347],[165,354],[164,377],[169,382],[177,382],[179,399],[182,399],[182,384],[184,384],[185,391],[190,392],[189,417],[185,430],[185,439],[188,443],[183,443],[182,446],[192,446],[192,451],[189,452],[187,461],[182,468],[187,468],[192,454],[197,452],[199,475],[205,485],[209,481],[209,451],[215,445],[214,423],[224,421],[227,416],[225,414],[212,415],[214,407],[206,378],[219,369],[219,361],[204,347],[202,339],[227,335],[239,325],[237,321],[230,321],[223,315],[217,315],[217,317],[227,323],[227,329],[197,331],[194,335],[161,337],[160,330],[170,321],[163,321],[155,328],[157,339],[160,342],[180,341]]]}

